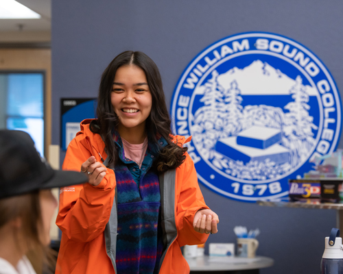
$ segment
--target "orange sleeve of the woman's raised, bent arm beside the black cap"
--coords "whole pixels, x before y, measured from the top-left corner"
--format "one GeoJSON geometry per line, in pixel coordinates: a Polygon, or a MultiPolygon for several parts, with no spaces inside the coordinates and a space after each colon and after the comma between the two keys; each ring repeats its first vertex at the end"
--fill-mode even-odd
{"type": "MultiPolygon", "coordinates": [[[[91,157],[91,152],[79,139],[77,136],[70,142],[62,169],[80,171],[81,164],[91,157]]],[[[61,188],[56,225],[71,240],[93,240],[104,232],[108,223],[115,186],[115,174],[112,169],[107,169],[98,186],[85,183],[61,188]]]]}

